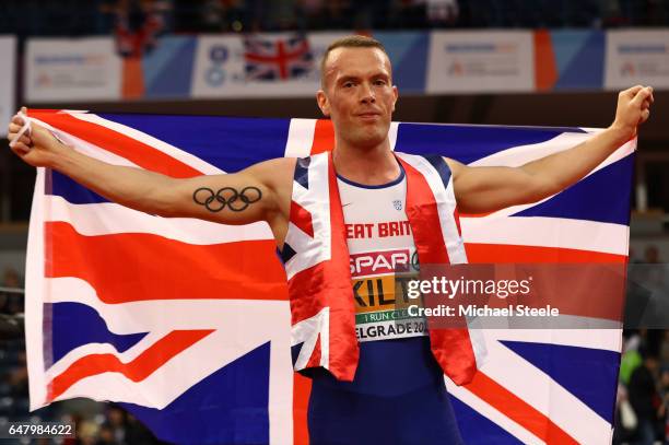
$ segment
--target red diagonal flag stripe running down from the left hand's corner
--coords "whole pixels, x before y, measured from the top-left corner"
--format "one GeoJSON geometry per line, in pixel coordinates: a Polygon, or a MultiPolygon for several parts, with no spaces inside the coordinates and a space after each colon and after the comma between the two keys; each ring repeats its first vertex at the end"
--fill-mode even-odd
{"type": "Polygon", "coordinates": [[[77,119],[67,113],[34,113],[33,115],[62,131],[125,157],[142,168],[178,178],[202,175],[190,165],[107,127],[77,119]]]}

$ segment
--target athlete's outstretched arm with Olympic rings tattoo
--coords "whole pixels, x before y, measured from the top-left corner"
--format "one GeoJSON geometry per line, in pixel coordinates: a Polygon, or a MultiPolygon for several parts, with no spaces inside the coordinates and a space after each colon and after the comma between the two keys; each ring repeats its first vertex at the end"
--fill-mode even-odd
{"type": "MultiPolygon", "coordinates": [[[[10,140],[22,124],[19,116],[12,119],[10,140]]],[[[290,202],[294,163],[290,159],[267,161],[235,174],[175,179],[86,156],[38,125],[33,125],[31,134],[21,137],[12,150],[26,163],[61,172],[111,201],[162,216],[225,224],[268,221],[274,230],[287,207],[283,201],[290,202]]]]}

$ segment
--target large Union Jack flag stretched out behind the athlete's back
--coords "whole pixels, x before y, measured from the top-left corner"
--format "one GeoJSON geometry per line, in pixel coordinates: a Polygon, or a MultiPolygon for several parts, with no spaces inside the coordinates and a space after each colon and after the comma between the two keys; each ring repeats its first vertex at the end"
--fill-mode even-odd
{"type": "MultiPolygon", "coordinates": [[[[81,152],[173,177],[333,147],[327,120],[28,115],[81,152]]],[[[595,131],[394,122],[389,137],[403,152],[519,165],[595,131]]],[[[635,143],[554,197],[462,215],[470,261],[625,264],[635,143]]],[[[150,215],[39,168],[26,269],[31,409],[87,397],[121,403],[176,443],[307,443],[309,380],[292,371],[274,250],[265,223],[150,215]]],[[[619,329],[483,333],[489,360],[474,380],[446,379],[467,443],[610,442],[619,329]]]]}

